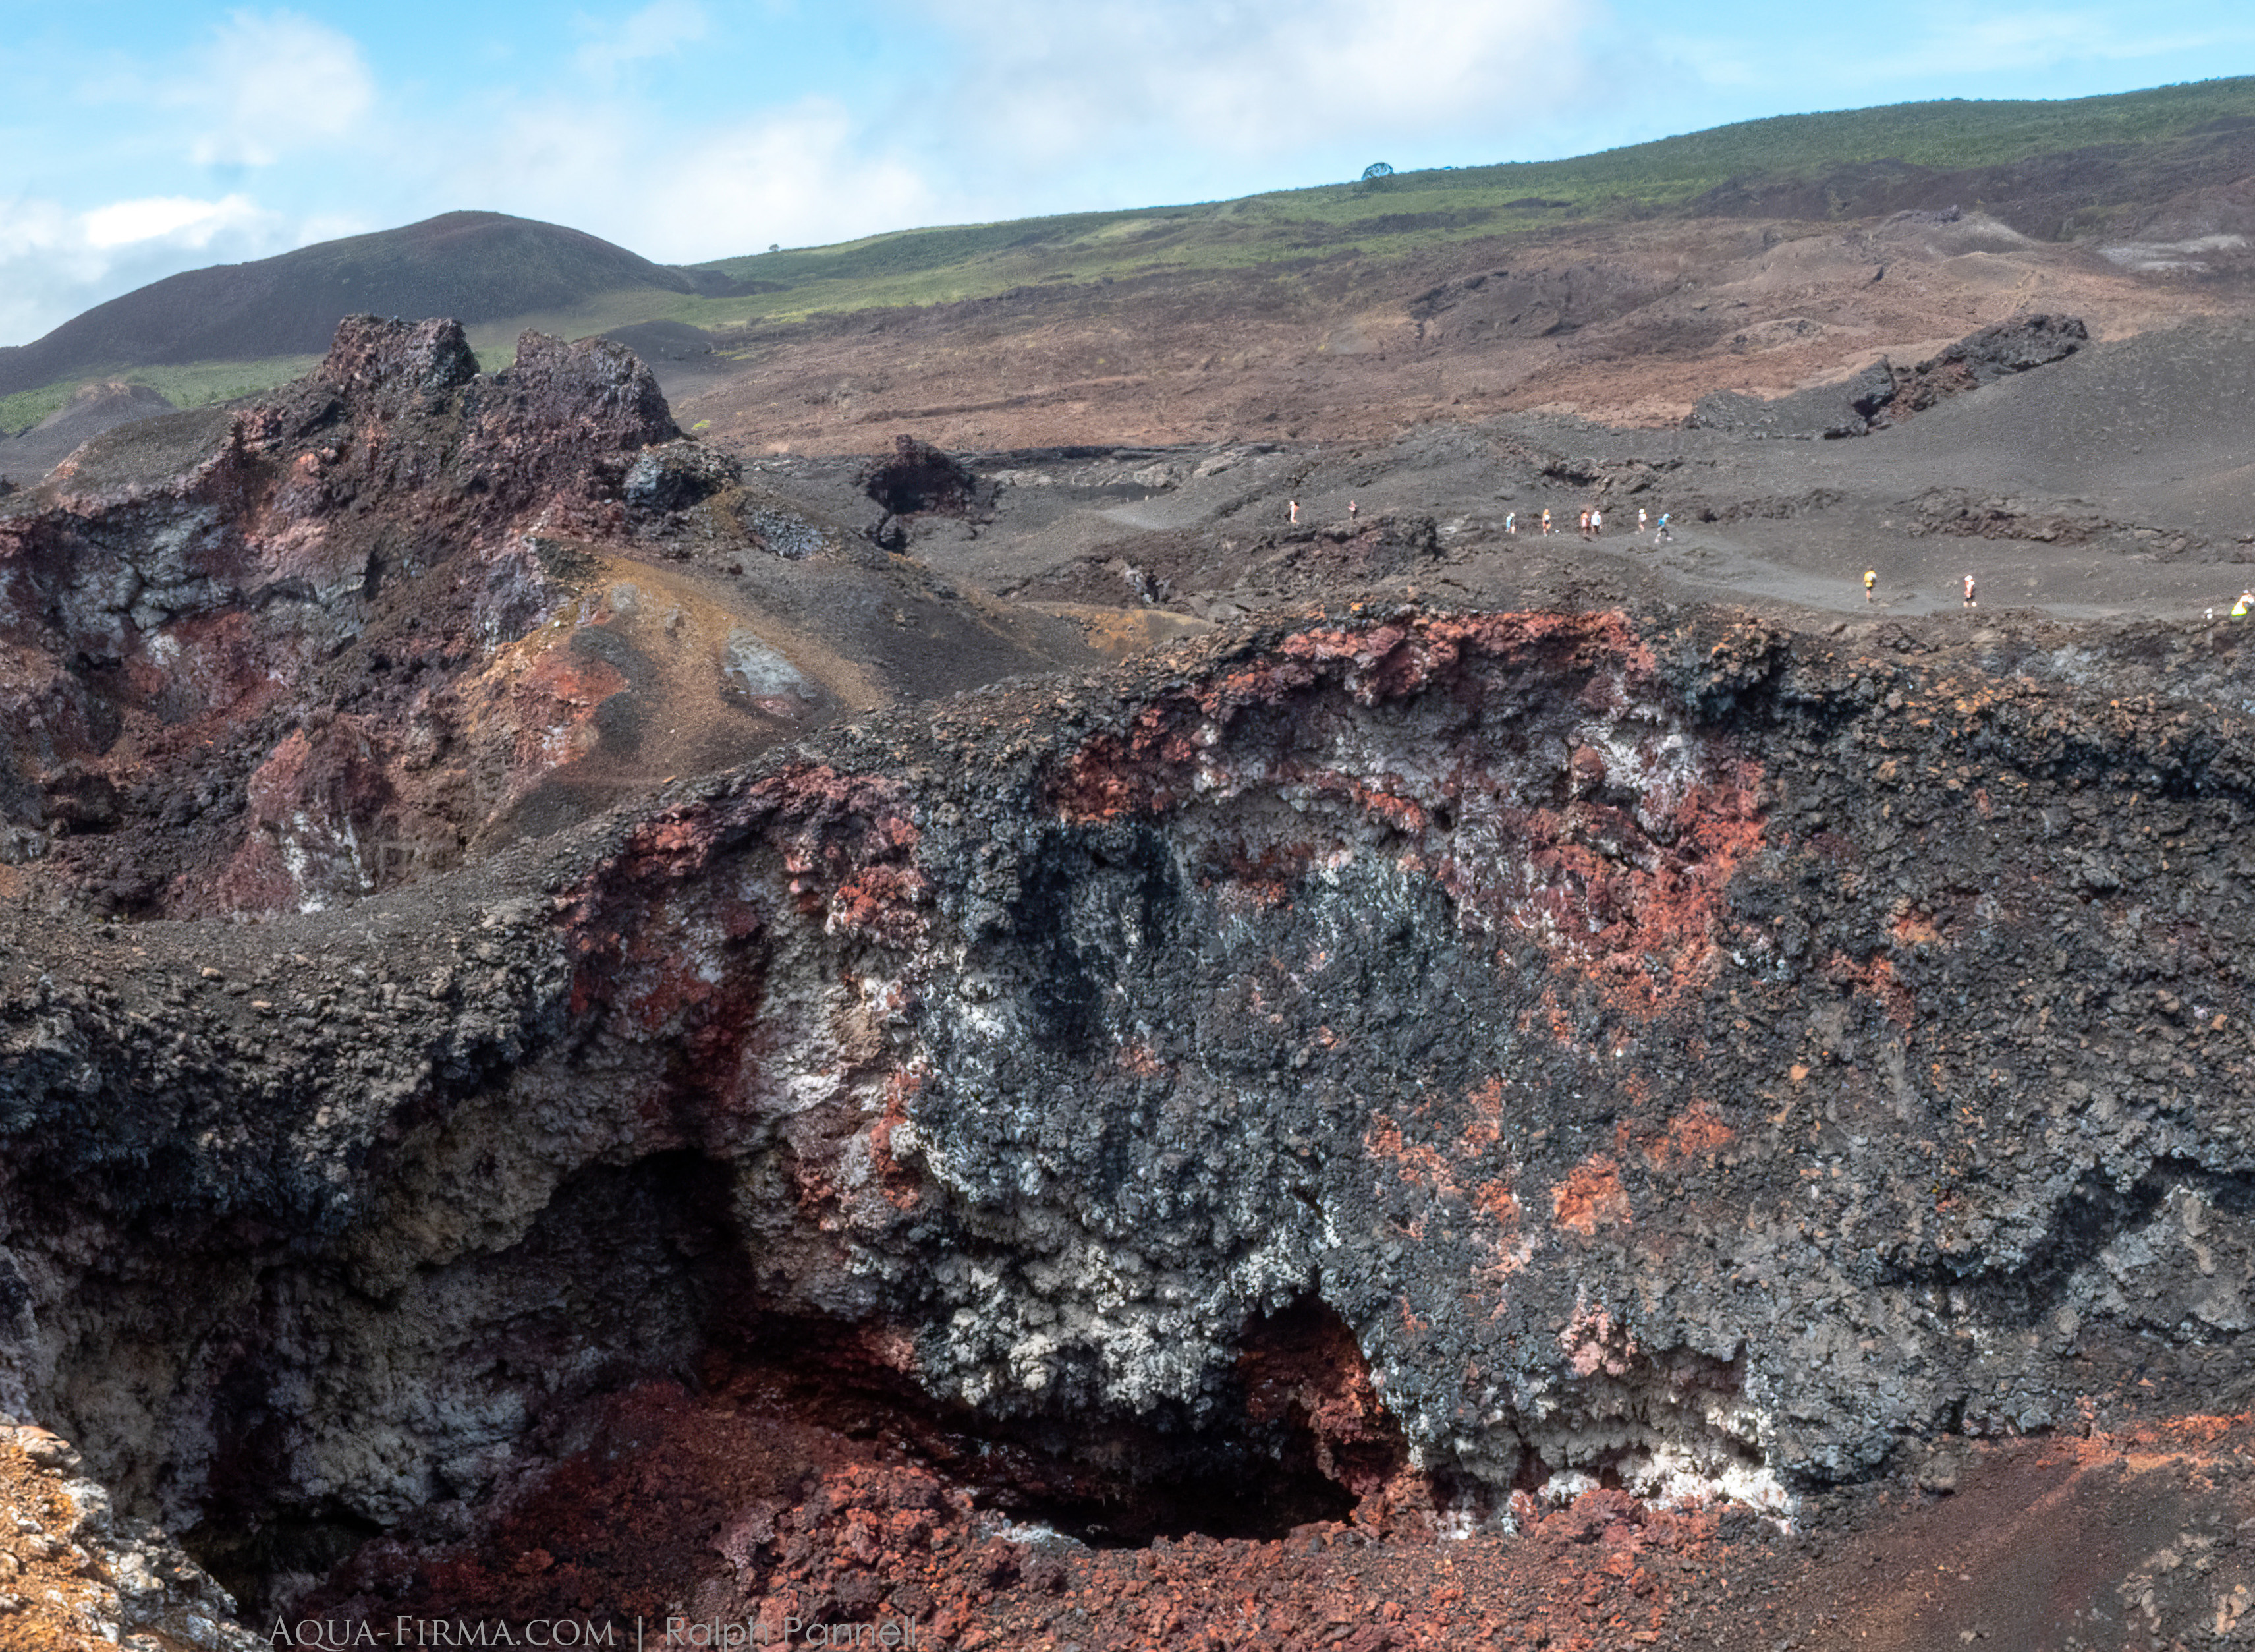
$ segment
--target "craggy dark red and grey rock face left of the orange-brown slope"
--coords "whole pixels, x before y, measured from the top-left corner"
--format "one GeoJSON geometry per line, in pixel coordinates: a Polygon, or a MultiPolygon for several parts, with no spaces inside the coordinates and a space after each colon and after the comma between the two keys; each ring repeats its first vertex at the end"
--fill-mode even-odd
{"type": "Polygon", "coordinates": [[[622,478],[676,436],[600,339],[480,379],[458,323],[352,316],[255,406],[97,438],[0,515],[0,858],[131,916],[462,864],[625,686],[483,679],[564,598],[512,535],[625,546],[622,478]]]}

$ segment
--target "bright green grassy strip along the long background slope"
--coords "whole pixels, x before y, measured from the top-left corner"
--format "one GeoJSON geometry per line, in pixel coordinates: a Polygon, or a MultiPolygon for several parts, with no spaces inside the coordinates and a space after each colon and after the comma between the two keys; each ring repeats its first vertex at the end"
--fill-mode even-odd
{"type": "MultiPolygon", "coordinates": [[[[1330,253],[1391,257],[1572,219],[1682,208],[1716,185],[1748,176],[1824,176],[1874,160],[1935,172],[1998,167],[2048,151],[2156,142],[2210,122],[2244,120],[2255,120],[2255,77],[2066,102],[1953,99],[1779,115],[1574,160],[1407,172],[1378,187],[1339,183],[1240,201],[900,230],[841,246],[724,257],[706,269],[767,291],[740,298],[627,291],[568,311],[485,323],[471,329],[471,343],[480,361],[505,366],[514,357],[516,332],[528,325],[564,336],[636,320],[742,327],[1166,269],[1254,269],[1330,253]]],[[[248,395],[302,370],[302,357],[284,357],[133,368],[110,377],[153,384],[194,406],[248,395]]],[[[0,399],[0,431],[45,418],[77,384],[83,379],[0,399]]]]}

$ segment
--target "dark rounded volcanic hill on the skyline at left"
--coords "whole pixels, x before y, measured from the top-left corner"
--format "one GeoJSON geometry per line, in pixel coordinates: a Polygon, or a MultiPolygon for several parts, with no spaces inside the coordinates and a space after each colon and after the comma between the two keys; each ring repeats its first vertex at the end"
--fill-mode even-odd
{"type": "Polygon", "coordinates": [[[695,293],[726,291],[728,282],[652,264],[559,223],[442,212],[399,230],[192,269],[140,287],[36,343],[0,350],[0,395],[120,366],[320,354],[336,323],[352,314],[478,323],[568,309],[636,287],[695,293]]]}

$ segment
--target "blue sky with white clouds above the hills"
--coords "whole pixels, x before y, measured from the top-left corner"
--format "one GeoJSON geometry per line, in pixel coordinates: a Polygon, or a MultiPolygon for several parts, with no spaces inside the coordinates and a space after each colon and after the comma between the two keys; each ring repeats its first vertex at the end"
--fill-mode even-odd
{"type": "Polygon", "coordinates": [[[2226,0],[0,0],[0,343],[453,208],[695,262],[2246,72],[2226,0]]]}

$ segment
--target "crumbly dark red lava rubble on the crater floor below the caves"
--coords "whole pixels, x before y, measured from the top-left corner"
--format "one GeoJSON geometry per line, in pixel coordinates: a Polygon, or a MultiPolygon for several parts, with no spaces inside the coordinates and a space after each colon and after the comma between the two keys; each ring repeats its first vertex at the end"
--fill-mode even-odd
{"type": "MultiPolygon", "coordinates": [[[[1297,1341],[1319,1363],[1337,1352],[1321,1336],[1297,1341]]],[[[1351,1341],[1346,1356],[1360,1365],[1351,1341]]],[[[1716,1514],[1655,1512],[1599,1490],[1549,1514],[1522,1496],[1520,1537],[1439,1541],[1430,1508],[1389,1505],[1391,1480],[1373,1478],[1353,1519],[1310,1521],[1279,1541],[1193,1532],[1087,1548],[974,1499],[1006,1474],[1017,1496],[1044,1476],[1051,1490],[1073,1490],[1071,1467],[1024,1453],[990,1462],[990,1442],[952,1438],[855,1390],[850,1361],[828,1377],[816,1386],[769,1365],[701,1392],[647,1383],[618,1395],[589,1444],[514,1494],[478,1539],[435,1550],[368,1544],[293,1616],[688,1616],[753,1620],[776,1643],[787,1618],[913,1618],[931,1643],[974,1650],[1590,1652],[1651,1643],[1678,1573],[1712,1555],[1721,1530],[1716,1514]]],[[[1367,1449],[1387,1433],[1382,1413],[1342,1397],[1335,1377],[1312,1374],[1330,1388],[1319,1408],[1367,1449]]],[[[1301,1392],[1306,1383],[1288,1404],[1301,1392]]],[[[1364,1465],[1389,1458],[1400,1460],[1398,1435],[1364,1465]]]]}

